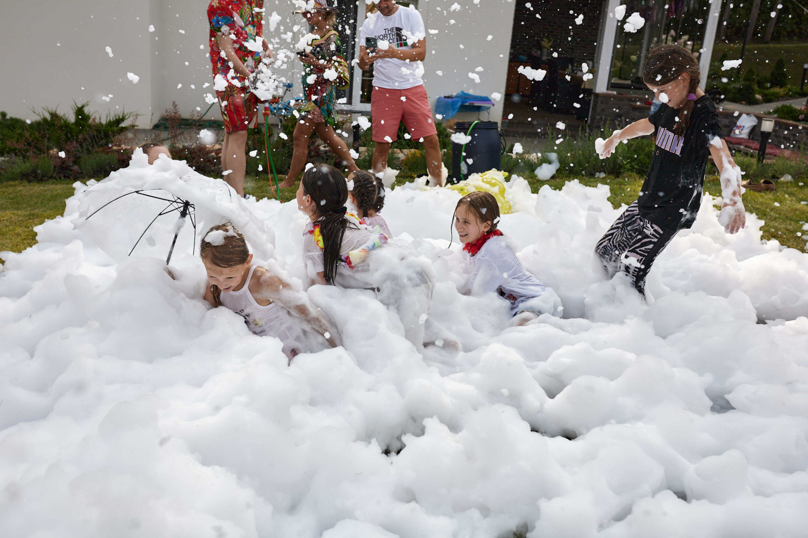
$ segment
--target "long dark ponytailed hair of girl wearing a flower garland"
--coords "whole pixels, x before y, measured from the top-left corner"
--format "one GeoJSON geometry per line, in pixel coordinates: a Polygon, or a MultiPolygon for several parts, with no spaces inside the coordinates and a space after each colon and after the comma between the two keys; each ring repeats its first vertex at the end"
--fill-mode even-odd
{"type": "Polygon", "coordinates": [[[303,192],[317,203],[320,218],[314,223],[319,224],[322,236],[323,277],[326,284],[333,285],[345,228],[356,227],[345,218],[347,183],[339,169],[329,165],[314,165],[303,173],[301,185],[303,192]]]}

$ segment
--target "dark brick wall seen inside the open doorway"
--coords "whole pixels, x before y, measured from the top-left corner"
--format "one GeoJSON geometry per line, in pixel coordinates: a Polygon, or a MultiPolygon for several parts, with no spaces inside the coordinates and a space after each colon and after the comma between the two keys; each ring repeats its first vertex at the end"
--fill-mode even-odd
{"type": "Polygon", "coordinates": [[[571,56],[577,65],[595,60],[595,42],[598,40],[599,0],[553,0],[543,2],[516,0],[511,36],[511,54],[530,57],[530,51],[539,48],[539,40],[553,38],[553,51],[559,56],[571,56]],[[530,3],[532,10],[525,6],[530,3]],[[570,14],[570,10],[573,11],[570,14]],[[575,17],[583,10],[583,23],[575,24],[575,17]],[[541,15],[539,19],[536,15],[541,15]],[[570,28],[571,27],[571,28],[570,28]],[[570,33],[571,32],[571,33],[570,33]],[[567,38],[571,37],[571,40],[567,38]]]}

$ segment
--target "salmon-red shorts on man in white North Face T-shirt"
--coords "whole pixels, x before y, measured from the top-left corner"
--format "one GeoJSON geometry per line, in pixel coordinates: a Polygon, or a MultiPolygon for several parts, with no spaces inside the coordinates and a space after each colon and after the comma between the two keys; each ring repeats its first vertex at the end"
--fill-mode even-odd
{"type": "Polygon", "coordinates": [[[406,90],[373,86],[373,93],[370,94],[370,115],[373,119],[375,142],[395,141],[398,123],[402,120],[407,131],[410,131],[410,136],[415,140],[438,133],[432,120],[427,90],[423,84],[406,90]]]}

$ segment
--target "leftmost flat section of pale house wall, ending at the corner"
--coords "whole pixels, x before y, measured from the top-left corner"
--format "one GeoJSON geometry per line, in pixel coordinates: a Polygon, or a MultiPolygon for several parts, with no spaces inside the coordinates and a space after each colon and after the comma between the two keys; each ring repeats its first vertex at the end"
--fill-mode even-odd
{"type": "Polygon", "coordinates": [[[101,115],[121,109],[148,111],[154,82],[149,11],[147,0],[3,2],[3,19],[15,23],[6,24],[0,37],[5,52],[0,55],[0,110],[36,119],[32,109],[47,106],[66,112],[74,101],[89,101],[91,110],[101,115]],[[35,23],[21,23],[25,20],[35,23]],[[104,51],[107,46],[112,58],[104,51]],[[127,72],[141,77],[137,85],[127,72]],[[113,97],[103,101],[108,94],[113,97]]]}

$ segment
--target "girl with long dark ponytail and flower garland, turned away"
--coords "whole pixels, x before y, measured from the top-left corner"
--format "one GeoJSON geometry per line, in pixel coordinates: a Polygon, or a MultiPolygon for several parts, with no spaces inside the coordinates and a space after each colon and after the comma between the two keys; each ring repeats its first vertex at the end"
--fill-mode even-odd
{"type": "Polygon", "coordinates": [[[311,282],[374,290],[398,315],[406,339],[423,347],[433,282],[429,261],[388,245],[381,227],[347,211],[347,198],[345,177],[333,166],[316,165],[303,174],[297,206],[310,221],[303,258],[311,282]]]}

